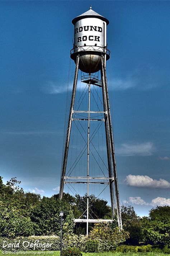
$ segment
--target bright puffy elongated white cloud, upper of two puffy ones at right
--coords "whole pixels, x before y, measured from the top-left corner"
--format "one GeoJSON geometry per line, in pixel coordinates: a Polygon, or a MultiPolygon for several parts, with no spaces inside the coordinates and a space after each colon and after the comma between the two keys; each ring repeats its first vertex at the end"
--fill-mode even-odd
{"type": "Polygon", "coordinates": [[[170,188],[170,183],[167,180],[159,179],[154,180],[147,175],[131,175],[126,176],[124,180],[127,185],[134,187],[145,187],[145,188],[170,188]]]}

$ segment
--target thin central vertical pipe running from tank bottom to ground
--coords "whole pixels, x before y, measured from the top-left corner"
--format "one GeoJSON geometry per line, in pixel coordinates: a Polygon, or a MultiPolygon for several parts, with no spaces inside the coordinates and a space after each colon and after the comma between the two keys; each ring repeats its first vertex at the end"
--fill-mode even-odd
{"type": "Polygon", "coordinates": [[[89,138],[90,138],[90,74],[89,74],[89,107],[88,107],[88,166],[87,166],[87,230],[89,229],[89,138]]]}

